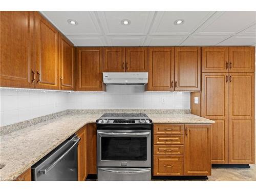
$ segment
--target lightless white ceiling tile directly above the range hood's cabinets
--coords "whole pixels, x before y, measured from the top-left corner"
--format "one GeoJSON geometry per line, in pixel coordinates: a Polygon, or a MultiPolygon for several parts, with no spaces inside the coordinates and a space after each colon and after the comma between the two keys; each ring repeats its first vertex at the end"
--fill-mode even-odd
{"type": "Polygon", "coordinates": [[[111,46],[142,46],[145,36],[107,36],[111,46]]]}

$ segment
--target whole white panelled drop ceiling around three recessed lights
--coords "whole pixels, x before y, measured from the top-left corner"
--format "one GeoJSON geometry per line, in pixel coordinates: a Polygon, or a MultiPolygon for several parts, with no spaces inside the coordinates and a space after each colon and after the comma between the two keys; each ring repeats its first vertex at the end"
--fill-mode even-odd
{"type": "Polygon", "coordinates": [[[42,11],[76,46],[256,46],[254,11],[42,11]],[[70,25],[74,19],[78,25],[70,25]],[[121,25],[129,19],[130,25],[121,25]],[[183,19],[182,25],[174,25],[183,19]]]}

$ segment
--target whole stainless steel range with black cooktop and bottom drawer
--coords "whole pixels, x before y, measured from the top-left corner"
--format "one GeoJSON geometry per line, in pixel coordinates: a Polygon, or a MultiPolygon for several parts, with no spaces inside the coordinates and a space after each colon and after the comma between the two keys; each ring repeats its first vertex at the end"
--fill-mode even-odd
{"type": "Polygon", "coordinates": [[[150,180],[152,120],[142,113],[107,113],[96,124],[98,180],[150,180]]]}

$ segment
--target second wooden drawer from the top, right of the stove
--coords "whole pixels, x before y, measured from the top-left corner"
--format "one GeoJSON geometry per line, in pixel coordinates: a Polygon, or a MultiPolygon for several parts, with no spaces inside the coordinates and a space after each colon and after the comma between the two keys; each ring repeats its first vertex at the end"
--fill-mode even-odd
{"type": "Polygon", "coordinates": [[[183,144],[184,135],[154,135],[154,144],[183,144]]]}

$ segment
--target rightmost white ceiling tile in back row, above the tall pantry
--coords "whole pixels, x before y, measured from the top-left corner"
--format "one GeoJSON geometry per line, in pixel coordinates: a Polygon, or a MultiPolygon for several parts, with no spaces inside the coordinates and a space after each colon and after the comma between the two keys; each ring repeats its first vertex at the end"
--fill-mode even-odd
{"type": "Polygon", "coordinates": [[[256,37],[234,35],[218,44],[218,46],[250,46],[256,42],[256,37]]]}

